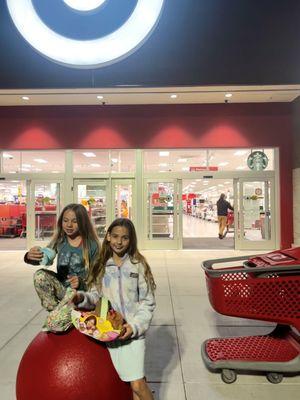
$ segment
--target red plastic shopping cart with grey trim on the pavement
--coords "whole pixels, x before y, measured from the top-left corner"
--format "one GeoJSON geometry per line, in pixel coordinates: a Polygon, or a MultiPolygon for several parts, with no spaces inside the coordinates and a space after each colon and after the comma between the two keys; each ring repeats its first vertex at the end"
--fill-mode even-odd
{"type": "Polygon", "coordinates": [[[219,313],[276,322],[267,335],[208,339],[202,358],[233,383],[237,371],[265,372],[271,383],[300,373],[300,248],[203,262],[208,296],[219,313]],[[219,263],[239,266],[214,268],[219,263]],[[242,264],[242,265],[241,265],[242,264]]]}

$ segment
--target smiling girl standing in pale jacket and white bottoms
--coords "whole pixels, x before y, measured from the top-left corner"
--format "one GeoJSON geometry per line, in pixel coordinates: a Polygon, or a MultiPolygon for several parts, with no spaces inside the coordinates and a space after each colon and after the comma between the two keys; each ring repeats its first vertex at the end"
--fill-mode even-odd
{"type": "Polygon", "coordinates": [[[126,323],[120,340],[107,343],[113,364],[123,381],[130,382],[134,400],[153,400],[145,380],[145,332],[155,309],[155,282],[146,259],[137,248],[133,223],[116,219],[105,235],[99,262],[88,276],[89,292],[78,291],[73,302],[93,309],[101,296],[109,299],[126,323]]]}

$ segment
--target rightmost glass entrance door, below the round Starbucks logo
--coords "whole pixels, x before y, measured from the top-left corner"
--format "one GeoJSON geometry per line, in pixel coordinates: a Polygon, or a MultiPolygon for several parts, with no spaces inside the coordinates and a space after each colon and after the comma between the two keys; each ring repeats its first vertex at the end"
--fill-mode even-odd
{"type": "Polygon", "coordinates": [[[274,249],[274,180],[238,179],[235,181],[236,249],[274,249]]]}

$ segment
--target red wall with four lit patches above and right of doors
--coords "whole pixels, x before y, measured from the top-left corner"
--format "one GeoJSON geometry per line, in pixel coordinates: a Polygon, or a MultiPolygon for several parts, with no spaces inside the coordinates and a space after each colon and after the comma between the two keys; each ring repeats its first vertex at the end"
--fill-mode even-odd
{"type": "Polygon", "coordinates": [[[288,103],[1,107],[0,148],[279,147],[282,247],[293,241],[288,103]]]}

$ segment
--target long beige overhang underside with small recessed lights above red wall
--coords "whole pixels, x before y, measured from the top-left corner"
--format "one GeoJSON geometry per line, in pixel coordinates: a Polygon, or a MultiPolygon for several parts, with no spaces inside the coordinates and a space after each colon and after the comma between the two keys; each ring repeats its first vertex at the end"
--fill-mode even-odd
{"type": "Polygon", "coordinates": [[[300,85],[2,89],[0,106],[270,103],[293,102],[299,95],[300,85]]]}

